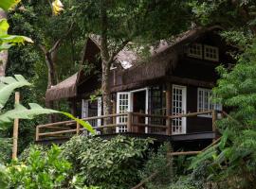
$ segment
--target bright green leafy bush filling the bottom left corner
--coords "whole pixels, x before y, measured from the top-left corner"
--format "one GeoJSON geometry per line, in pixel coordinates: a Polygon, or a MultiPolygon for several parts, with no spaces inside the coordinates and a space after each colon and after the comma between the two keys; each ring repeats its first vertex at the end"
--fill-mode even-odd
{"type": "Polygon", "coordinates": [[[52,146],[45,155],[31,149],[26,163],[12,162],[2,171],[1,188],[61,188],[71,164],[61,157],[61,149],[52,146]]]}

